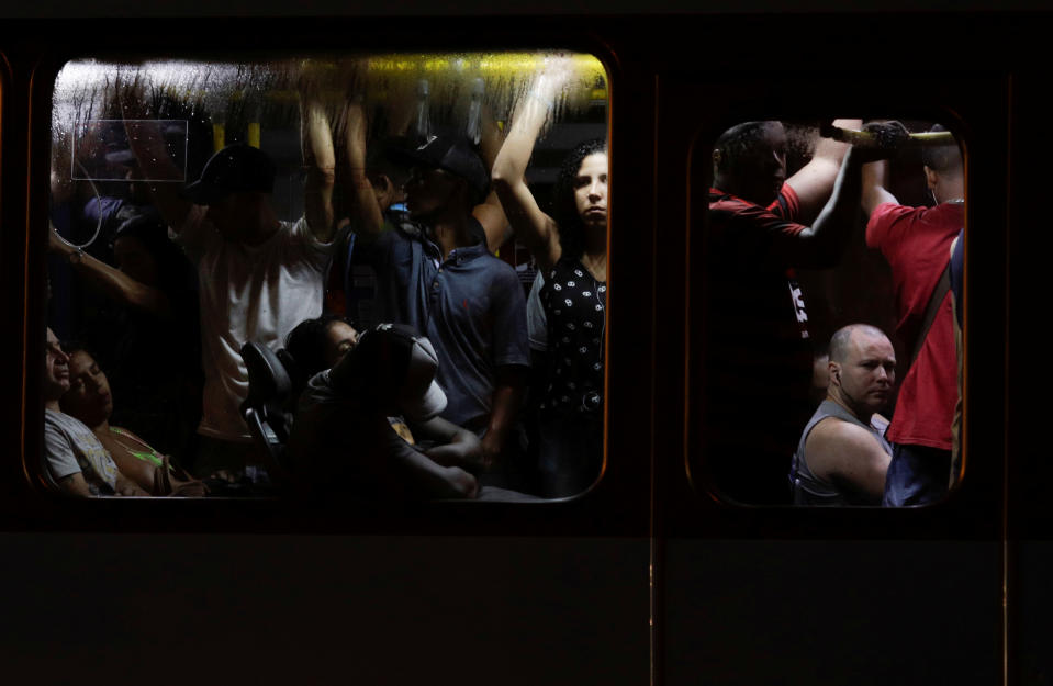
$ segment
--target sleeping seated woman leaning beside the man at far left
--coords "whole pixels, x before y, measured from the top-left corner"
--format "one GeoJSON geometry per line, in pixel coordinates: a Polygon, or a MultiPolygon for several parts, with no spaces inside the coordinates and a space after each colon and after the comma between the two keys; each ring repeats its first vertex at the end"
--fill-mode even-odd
{"type": "Polygon", "coordinates": [[[171,464],[168,456],[132,431],[110,425],[113,395],[107,375],[83,348],[76,344],[64,348],[69,356],[69,390],[59,398],[59,406],[91,429],[121,473],[150,495],[205,495],[205,485],[171,464]]]}

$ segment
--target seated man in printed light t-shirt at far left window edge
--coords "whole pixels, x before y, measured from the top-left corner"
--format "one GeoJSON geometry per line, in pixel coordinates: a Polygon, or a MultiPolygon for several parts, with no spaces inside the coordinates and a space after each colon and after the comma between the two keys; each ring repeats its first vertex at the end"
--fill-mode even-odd
{"type": "Polygon", "coordinates": [[[69,495],[149,495],[126,479],[96,435],[64,414],[58,398],[69,390],[69,358],[52,329],[44,353],[44,457],[47,471],[69,495]]]}

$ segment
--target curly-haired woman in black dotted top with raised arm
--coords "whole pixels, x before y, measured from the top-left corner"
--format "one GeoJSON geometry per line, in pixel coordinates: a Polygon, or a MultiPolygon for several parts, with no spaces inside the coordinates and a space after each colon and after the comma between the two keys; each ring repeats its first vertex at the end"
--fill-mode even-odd
{"type": "Polygon", "coordinates": [[[603,464],[604,335],[607,308],[607,148],[580,144],[563,161],[553,214],[538,206],[525,172],[569,69],[542,71],[520,99],[493,168],[508,222],[544,274],[549,369],[540,397],[542,494],[581,493],[603,464]]]}

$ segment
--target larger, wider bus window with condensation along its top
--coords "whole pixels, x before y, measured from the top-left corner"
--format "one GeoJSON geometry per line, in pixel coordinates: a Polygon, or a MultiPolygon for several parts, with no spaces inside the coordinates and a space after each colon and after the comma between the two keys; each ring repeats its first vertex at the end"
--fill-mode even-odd
{"type": "Polygon", "coordinates": [[[78,59],[53,102],[45,481],[539,501],[598,480],[594,57],[78,59]]]}

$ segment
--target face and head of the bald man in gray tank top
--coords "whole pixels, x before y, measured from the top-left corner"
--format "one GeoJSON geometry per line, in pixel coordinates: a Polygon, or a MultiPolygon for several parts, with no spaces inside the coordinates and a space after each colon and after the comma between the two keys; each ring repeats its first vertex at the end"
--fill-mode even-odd
{"type": "Polygon", "coordinates": [[[855,330],[843,363],[830,362],[830,375],[852,409],[866,416],[888,403],[896,382],[896,351],[885,336],[855,330]]]}

